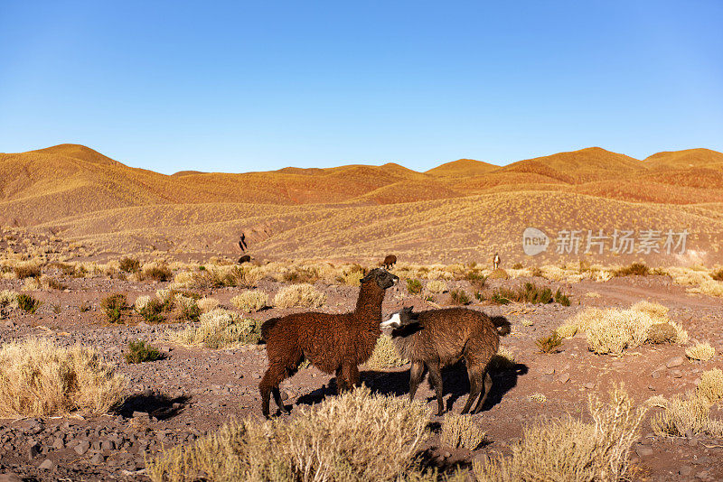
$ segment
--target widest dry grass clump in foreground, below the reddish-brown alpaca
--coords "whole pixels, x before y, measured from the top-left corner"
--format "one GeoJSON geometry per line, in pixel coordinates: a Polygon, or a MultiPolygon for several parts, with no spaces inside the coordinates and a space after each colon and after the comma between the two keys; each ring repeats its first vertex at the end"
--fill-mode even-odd
{"type": "Polygon", "coordinates": [[[428,438],[423,403],[359,388],[289,420],[230,422],[190,446],[149,460],[154,482],[437,480],[417,467],[428,438]]]}

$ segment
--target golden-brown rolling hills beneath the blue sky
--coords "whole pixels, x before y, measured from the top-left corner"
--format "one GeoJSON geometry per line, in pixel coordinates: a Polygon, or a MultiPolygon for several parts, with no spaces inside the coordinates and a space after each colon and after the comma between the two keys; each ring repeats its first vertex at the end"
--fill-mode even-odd
{"type": "MultiPolygon", "coordinates": [[[[502,167],[461,159],[426,172],[390,162],[171,176],[77,144],[0,153],[0,223],[114,253],[236,255],[245,232],[254,254],[267,258],[394,251],[450,262],[503,250],[524,259],[521,232],[532,226],[550,236],[688,229],[693,261],[719,262],[722,205],[723,154],[707,149],[639,161],[593,147],[502,167]]],[[[535,260],[580,256],[551,252],[535,260]]]]}

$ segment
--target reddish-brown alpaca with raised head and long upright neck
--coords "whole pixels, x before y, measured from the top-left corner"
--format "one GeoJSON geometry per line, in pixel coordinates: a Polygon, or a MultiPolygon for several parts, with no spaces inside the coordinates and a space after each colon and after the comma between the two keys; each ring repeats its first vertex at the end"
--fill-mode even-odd
{"type": "Polygon", "coordinates": [[[268,418],[270,394],[281,412],[278,385],[294,375],[302,360],[329,374],[336,374],[340,391],[359,385],[359,366],[371,357],[380,337],[381,301],[399,277],[375,268],[361,280],[356,308],[350,313],[294,313],[272,318],[261,325],[266,341],[268,369],[258,389],[261,412],[268,418]]]}

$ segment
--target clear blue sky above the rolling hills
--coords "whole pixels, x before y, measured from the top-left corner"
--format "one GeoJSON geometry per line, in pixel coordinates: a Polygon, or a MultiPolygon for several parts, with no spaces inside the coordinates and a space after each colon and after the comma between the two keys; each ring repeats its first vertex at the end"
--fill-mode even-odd
{"type": "Polygon", "coordinates": [[[171,173],[723,151],[722,25],[718,0],[0,0],[0,152],[171,173]]]}

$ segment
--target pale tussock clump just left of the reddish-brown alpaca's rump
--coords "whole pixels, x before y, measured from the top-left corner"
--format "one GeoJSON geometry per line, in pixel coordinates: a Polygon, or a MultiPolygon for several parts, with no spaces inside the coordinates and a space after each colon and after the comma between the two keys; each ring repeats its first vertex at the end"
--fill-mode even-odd
{"type": "Polygon", "coordinates": [[[198,325],[170,332],[168,339],[181,345],[205,348],[257,344],[261,339],[261,322],[219,308],[203,313],[198,325]]]}

